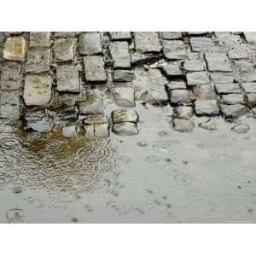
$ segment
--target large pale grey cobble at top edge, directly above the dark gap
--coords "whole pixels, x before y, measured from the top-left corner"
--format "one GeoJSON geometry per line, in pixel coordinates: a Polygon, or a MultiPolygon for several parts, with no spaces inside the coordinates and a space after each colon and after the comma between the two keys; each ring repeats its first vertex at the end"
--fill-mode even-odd
{"type": "Polygon", "coordinates": [[[157,32],[134,32],[137,51],[142,53],[160,52],[161,45],[157,32]]]}

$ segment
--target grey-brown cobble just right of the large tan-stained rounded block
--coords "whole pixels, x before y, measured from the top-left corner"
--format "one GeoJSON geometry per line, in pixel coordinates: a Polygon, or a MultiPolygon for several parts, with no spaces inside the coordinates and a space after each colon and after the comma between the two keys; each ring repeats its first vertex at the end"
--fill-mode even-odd
{"type": "Polygon", "coordinates": [[[78,93],[80,90],[79,69],[74,65],[63,65],[56,68],[57,90],[78,93]]]}

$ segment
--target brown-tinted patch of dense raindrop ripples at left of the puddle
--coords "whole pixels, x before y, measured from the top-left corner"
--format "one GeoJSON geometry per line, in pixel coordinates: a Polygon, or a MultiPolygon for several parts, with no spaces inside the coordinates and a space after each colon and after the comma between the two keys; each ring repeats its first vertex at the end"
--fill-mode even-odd
{"type": "Polygon", "coordinates": [[[55,191],[96,189],[116,157],[108,139],[67,138],[58,132],[4,134],[0,139],[0,184],[55,191]]]}

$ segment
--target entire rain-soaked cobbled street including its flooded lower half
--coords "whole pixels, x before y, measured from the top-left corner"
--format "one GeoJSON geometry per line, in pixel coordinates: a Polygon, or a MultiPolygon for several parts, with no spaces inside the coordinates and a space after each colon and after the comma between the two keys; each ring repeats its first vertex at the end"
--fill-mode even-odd
{"type": "Polygon", "coordinates": [[[255,222],[253,33],[1,37],[0,223],[255,222]]]}

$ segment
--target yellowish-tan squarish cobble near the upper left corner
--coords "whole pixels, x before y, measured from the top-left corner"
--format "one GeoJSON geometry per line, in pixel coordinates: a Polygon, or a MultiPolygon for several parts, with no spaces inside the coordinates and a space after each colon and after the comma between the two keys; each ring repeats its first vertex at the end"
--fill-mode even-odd
{"type": "Polygon", "coordinates": [[[3,48],[3,59],[24,61],[26,56],[26,39],[22,37],[7,38],[3,48]]]}

